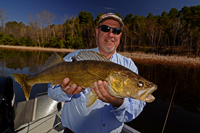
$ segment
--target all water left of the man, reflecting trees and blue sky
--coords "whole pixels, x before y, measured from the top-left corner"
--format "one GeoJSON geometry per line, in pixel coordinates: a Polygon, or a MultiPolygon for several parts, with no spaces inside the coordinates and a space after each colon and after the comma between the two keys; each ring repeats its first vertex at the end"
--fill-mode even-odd
{"type": "MultiPolygon", "coordinates": [[[[51,54],[52,52],[0,50],[0,75],[10,76],[12,73],[35,74],[42,68],[51,54]]],[[[66,53],[60,55],[64,56],[66,53]]],[[[14,90],[16,104],[25,101],[23,89],[15,81],[14,90]]],[[[46,91],[46,84],[36,84],[31,89],[30,99],[35,98],[36,94],[46,91]]]]}

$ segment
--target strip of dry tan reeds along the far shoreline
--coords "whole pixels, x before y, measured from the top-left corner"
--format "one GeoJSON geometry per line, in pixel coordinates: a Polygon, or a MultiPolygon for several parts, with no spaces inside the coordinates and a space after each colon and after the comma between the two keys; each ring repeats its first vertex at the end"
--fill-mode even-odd
{"type": "MultiPolygon", "coordinates": [[[[49,51],[49,52],[67,52],[71,53],[76,49],[61,49],[61,48],[43,48],[43,47],[29,47],[29,46],[9,46],[0,45],[0,49],[7,50],[22,50],[22,51],[49,51]]],[[[146,54],[143,52],[118,52],[119,54],[131,58],[136,63],[145,64],[160,64],[166,66],[182,66],[200,69],[200,57],[187,58],[187,56],[163,56],[155,54],[146,54]]]]}

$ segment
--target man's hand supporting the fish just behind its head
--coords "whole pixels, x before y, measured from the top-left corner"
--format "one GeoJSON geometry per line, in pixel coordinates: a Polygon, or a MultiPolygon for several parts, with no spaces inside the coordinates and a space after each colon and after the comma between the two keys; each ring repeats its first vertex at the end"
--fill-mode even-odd
{"type": "Polygon", "coordinates": [[[106,81],[99,80],[98,82],[94,82],[94,88],[91,88],[94,91],[98,99],[103,102],[110,103],[113,107],[119,107],[123,104],[124,98],[113,97],[108,92],[108,83],[106,81]]]}

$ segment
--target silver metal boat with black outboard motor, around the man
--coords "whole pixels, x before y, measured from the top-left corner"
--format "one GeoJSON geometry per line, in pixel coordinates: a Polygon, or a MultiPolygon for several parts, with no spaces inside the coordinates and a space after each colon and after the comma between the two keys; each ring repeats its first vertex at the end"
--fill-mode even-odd
{"type": "MultiPolygon", "coordinates": [[[[47,92],[22,101],[15,107],[12,78],[0,77],[0,132],[2,133],[63,133],[63,103],[51,99],[47,92]],[[8,93],[9,92],[9,93],[8,93]],[[12,93],[11,93],[12,92],[12,93]]],[[[140,133],[124,124],[121,133],[140,133]]]]}

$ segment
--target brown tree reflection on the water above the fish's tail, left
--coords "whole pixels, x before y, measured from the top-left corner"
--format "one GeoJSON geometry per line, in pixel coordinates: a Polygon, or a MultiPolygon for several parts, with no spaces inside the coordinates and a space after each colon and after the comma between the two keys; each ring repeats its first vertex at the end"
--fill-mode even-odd
{"type": "Polygon", "coordinates": [[[28,52],[28,51],[8,51],[0,50],[1,59],[1,75],[6,74],[4,68],[24,69],[27,68],[27,74],[37,72],[39,68],[46,62],[50,53],[44,52],[28,52]]]}

